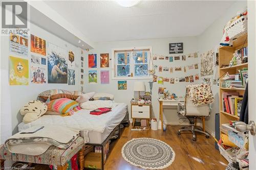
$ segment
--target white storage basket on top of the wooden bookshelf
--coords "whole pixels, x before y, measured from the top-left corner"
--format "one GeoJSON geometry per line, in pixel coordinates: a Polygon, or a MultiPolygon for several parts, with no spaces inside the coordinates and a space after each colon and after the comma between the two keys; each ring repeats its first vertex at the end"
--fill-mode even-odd
{"type": "Polygon", "coordinates": [[[237,20],[234,20],[225,30],[229,39],[238,38],[239,36],[247,33],[247,15],[243,15],[237,20]]]}

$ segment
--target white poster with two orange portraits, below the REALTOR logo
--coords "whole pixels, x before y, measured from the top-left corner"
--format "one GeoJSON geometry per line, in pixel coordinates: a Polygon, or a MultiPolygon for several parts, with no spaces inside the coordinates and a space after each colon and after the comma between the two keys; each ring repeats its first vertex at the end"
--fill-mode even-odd
{"type": "MultiPolygon", "coordinates": [[[[19,31],[17,31],[18,33],[19,31]]],[[[23,31],[22,31],[23,32],[23,31]]],[[[28,34],[12,34],[10,33],[9,50],[11,53],[28,57],[28,34]]]]}

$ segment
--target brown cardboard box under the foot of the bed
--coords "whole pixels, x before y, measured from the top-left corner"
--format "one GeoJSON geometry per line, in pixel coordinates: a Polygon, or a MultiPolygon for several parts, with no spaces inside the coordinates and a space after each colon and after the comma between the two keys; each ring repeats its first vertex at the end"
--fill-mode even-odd
{"type": "Polygon", "coordinates": [[[101,169],[101,154],[90,152],[84,158],[84,167],[101,169]]]}

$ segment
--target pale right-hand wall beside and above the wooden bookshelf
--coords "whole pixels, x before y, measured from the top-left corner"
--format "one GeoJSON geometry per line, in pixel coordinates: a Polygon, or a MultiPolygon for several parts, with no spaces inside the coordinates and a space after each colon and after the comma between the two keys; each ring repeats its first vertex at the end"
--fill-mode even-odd
{"type": "MultiPolygon", "coordinates": [[[[200,54],[205,53],[210,49],[219,47],[223,35],[223,28],[227,21],[231,17],[237,14],[238,11],[243,10],[247,6],[247,1],[239,1],[234,3],[230,8],[227,9],[225,15],[222,15],[214,23],[211,24],[201,35],[197,37],[198,49],[200,54]]],[[[214,79],[219,78],[218,66],[214,69],[214,79]]],[[[217,85],[212,86],[214,92],[215,102],[212,104],[212,114],[206,118],[205,128],[211,134],[215,133],[215,114],[219,113],[219,87],[217,85]]]]}

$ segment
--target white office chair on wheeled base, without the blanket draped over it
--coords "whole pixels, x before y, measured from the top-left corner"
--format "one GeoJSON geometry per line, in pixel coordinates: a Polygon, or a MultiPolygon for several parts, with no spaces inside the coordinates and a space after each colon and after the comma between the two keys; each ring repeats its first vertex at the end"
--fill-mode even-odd
{"type": "MultiPolygon", "coordinates": [[[[210,107],[209,104],[204,104],[200,106],[195,106],[193,102],[189,99],[188,94],[189,89],[186,88],[186,95],[185,95],[185,102],[184,105],[178,103],[178,114],[181,114],[189,120],[189,124],[191,128],[182,127],[178,131],[178,135],[180,135],[181,131],[191,131],[193,133],[193,140],[196,141],[196,134],[195,132],[200,132],[205,134],[206,138],[209,138],[210,135],[206,132],[203,132],[199,129],[195,129],[195,120],[201,118],[202,116],[209,116],[210,115],[210,107]]],[[[181,118],[180,118],[181,119],[181,118]]]]}

